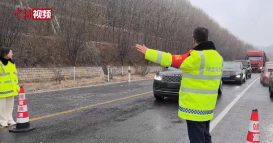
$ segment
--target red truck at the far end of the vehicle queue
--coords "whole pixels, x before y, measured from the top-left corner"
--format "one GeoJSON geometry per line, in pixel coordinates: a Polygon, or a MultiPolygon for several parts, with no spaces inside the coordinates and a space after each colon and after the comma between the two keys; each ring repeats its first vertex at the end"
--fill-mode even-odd
{"type": "Polygon", "coordinates": [[[265,51],[248,51],[246,60],[251,63],[252,71],[261,72],[268,60],[265,51]]]}

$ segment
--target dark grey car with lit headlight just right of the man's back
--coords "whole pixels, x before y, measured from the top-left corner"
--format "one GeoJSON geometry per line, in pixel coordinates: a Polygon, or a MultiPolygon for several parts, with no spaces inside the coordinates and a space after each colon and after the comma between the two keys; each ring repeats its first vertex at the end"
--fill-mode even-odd
{"type": "Polygon", "coordinates": [[[224,62],[223,81],[235,81],[243,84],[246,81],[246,68],[241,62],[224,62]]]}

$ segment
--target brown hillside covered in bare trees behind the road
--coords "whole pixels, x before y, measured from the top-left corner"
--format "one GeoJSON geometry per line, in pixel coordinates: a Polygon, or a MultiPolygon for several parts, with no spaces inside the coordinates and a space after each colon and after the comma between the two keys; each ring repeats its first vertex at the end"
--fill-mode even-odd
{"type": "Polygon", "coordinates": [[[198,26],[225,61],[254,49],[187,0],[1,0],[0,16],[0,45],[12,48],[20,68],[146,65],[136,43],[181,54],[193,48],[198,26]],[[32,7],[52,8],[53,19],[13,15],[32,7]]]}

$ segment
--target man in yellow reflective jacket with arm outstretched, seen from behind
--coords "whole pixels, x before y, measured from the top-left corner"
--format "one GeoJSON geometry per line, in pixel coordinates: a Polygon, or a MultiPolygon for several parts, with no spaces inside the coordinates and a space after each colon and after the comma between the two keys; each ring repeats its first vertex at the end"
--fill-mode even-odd
{"type": "Polygon", "coordinates": [[[178,116],[187,121],[191,143],[211,143],[209,123],[217,100],[223,59],[214,43],[208,41],[205,27],[194,29],[193,45],[192,50],[182,55],[171,55],[138,44],[136,50],[144,54],[146,60],[181,69],[178,116]]]}

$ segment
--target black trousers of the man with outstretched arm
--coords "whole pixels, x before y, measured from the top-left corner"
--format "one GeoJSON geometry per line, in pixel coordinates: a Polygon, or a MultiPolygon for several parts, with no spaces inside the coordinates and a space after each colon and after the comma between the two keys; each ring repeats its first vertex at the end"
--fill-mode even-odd
{"type": "Polygon", "coordinates": [[[187,120],[190,143],[211,143],[209,134],[209,122],[197,122],[187,120]]]}

